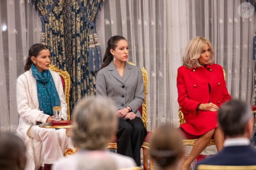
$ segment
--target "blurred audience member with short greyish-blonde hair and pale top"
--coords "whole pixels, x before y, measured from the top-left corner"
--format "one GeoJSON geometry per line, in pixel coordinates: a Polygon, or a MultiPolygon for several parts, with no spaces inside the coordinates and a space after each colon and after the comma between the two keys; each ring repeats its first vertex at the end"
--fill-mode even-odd
{"type": "Polygon", "coordinates": [[[106,157],[113,159],[117,169],[135,167],[136,163],[132,158],[105,149],[117,133],[118,121],[115,112],[113,102],[106,98],[88,97],[80,101],[72,112],[71,130],[72,141],[79,151],[57,161],[53,170],[78,170],[81,160],[86,160],[91,155],[97,157],[94,153],[104,153],[106,157]]]}

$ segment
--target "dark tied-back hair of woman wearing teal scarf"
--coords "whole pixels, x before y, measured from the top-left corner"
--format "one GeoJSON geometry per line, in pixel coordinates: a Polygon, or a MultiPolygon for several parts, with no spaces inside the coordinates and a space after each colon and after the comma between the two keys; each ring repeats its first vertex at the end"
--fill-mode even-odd
{"type": "Polygon", "coordinates": [[[41,43],[35,43],[32,45],[28,51],[28,57],[26,58],[26,64],[24,66],[25,72],[28,71],[31,68],[32,65],[32,60],[31,57],[38,57],[38,54],[40,53],[41,50],[47,50],[48,47],[46,47],[44,44],[41,43]]]}

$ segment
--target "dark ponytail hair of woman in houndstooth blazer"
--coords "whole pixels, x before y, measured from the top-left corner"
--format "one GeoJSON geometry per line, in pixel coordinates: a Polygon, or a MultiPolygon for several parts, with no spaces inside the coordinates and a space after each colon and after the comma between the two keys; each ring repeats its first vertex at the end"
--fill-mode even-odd
{"type": "Polygon", "coordinates": [[[106,52],[103,57],[103,64],[102,64],[101,69],[108,66],[111,63],[111,61],[113,60],[114,57],[111,54],[110,50],[111,49],[114,50],[117,47],[117,42],[120,40],[126,40],[126,39],[123,36],[112,36],[111,38],[109,38],[108,47],[107,47],[106,52]]]}

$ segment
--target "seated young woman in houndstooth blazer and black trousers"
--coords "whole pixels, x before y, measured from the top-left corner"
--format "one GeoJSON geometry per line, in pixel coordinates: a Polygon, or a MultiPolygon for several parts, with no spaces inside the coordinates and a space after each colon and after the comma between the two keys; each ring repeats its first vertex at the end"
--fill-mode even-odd
{"type": "Polygon", "coordinates": [[[140,166],[140,148],[147,135],[138,111],[144,102],[144,82],[141,70],[127,59],[127,40],[111,37],[96,78],[96,95],[111,98],[117,108],[117,153],[132,157],[140,166]]]}

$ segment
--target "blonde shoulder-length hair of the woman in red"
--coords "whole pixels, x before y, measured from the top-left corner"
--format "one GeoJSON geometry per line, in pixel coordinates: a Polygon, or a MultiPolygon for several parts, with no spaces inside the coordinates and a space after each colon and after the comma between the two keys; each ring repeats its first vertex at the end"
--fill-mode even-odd
{"type": "Polygon", "coordinates": [[[199,63],[198,58],[200,58],[201,51],[205,45],[209,46],[211,52],[209,63],[212,64],[214,62],[214,50],[211,42],[202,36],[196,36],[191,39],[186,46],[182,57],[183,65],[188,69],[202,66],[199,63]]]}

